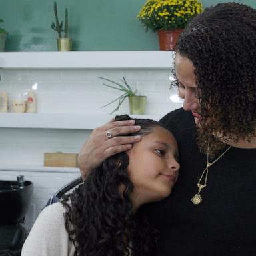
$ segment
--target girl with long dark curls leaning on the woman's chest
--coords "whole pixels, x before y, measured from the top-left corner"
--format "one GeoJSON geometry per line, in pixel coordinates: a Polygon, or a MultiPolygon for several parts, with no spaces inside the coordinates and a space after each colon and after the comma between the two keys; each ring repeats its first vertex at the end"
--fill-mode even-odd
{"type": "MultiPolygon", "coordinates": [[[[117,117],[123,119],[129,116],[117,117]]],[[[43,209],[21,255],[150,255],[156,249],[157,232],[137,210],[171,193],[179,171],[177,143],[156,121],[134,121],[141,141],[105,159],[73,194],[43,209]]]]}

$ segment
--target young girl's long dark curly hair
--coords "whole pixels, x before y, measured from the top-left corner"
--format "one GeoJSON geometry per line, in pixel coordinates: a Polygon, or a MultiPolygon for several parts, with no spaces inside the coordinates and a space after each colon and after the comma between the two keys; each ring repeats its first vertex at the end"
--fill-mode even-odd
{"type": "MultiPolygon", "coordinates": [[[[131,119],[128,115],[116,120],[131,119]]],[[[163,125],[149,119],[135,119],[145,135],[163,125]]],[[[133,213],[130,195],[133,183],[129,179],[127,153],[107,158],[101,167],[91,171],[87,179],[71,195],[62,200],[66,207],[65,227],[78,256],[151,255],[157,248],[158,233],[139,209],[133,213]],[[119,187],[124,187],[120,194],[119,187]],[[132,244],[132,246],[131,246],[132,244]]]]}

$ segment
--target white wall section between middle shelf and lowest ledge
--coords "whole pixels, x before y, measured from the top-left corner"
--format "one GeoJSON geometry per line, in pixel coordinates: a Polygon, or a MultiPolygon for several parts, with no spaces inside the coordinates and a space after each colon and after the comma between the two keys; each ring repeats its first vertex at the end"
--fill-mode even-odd
{"type": "Polygon", "coordinates": [[[43,166],[43,153],[78,153],[89,130],[0,129],[1,165],[43,166]]]}

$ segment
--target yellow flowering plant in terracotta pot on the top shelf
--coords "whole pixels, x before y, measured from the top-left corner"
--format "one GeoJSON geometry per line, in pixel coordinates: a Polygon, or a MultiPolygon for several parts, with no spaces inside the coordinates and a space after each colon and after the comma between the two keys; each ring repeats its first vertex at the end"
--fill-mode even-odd
{"type": "Polygon", "coordinates": [[[180,33],[203,11],[199,0],[147,0],[137,19],[146,29],[157,31],[160,50],[174,50],[180,33]]]}

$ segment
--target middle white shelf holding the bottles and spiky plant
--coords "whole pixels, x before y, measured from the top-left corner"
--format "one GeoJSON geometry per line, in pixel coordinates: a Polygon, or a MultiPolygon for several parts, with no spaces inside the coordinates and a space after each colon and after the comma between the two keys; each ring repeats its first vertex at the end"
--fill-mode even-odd
{"type": "MultiPolygon", "coordinates": [[[[73,113],[0,113],[1,128],[94,129],[115,115],[73,113]]],[[[159,121],[161,115],[131,115],[159,121]]]]}

